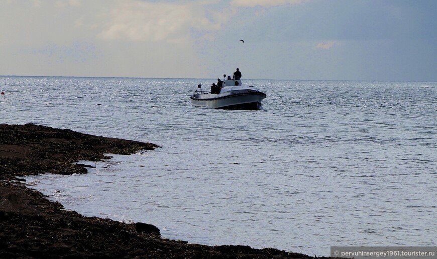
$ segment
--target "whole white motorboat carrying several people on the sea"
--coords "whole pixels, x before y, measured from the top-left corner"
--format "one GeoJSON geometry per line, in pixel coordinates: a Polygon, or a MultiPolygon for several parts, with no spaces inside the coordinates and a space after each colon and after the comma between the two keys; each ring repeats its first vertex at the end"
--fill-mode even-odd
{"type": "Polygon", "coordinates": [[[242,86],[241,80],[225,80],[218,94],[196,90],[191,96],[191,104],[212,109],[259,110],[266,94],[253,86],[242,86]],[[236,84],[237,82],[237,84],[236,84]]]}

